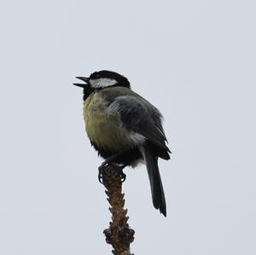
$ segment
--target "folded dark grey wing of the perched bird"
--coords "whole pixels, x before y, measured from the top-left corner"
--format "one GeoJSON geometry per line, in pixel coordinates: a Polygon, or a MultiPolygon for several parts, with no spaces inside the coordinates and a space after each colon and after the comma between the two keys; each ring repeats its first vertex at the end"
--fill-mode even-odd
{"type": "Polygon", "coordinates": [[[141,96],[118,96],[109,106],[110,110],[120,114],[127,130],[132,130],[146,138],[158,148],[159,156],[170,159],[171,153],[166,146],[166,135],[162,127],[162,115],[159,110],[141,96]]]}

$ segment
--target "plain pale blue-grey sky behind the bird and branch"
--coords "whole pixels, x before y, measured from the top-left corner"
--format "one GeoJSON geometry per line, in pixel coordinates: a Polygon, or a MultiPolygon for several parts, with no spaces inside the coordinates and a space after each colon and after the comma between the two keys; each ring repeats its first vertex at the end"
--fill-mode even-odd
{"type": "Polygon", "coordinates": [[[256,254],[255,1],[1,2],[0,254],[110,254],[75,76],[108,69],[165,116],[167,217],[127,169],[135,254],[256,254]]]}

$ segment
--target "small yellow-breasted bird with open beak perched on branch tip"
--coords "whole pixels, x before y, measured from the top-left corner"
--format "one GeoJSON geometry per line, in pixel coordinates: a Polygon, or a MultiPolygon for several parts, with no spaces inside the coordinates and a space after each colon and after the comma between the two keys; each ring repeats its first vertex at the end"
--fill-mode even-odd
{"type": "MultiPolygon", "coordinates": [[[[102,70],[90,77],[76,77],[83,83],[84,124],[91,145],[105,159],[99,171],[114,165],[125,180],[125,166],[143,162],[148,171],[153,205],[166,217],[166,198],[158,159],[170,159],[171,151],[162,126],[163,116],[149,101],[131,90],[118,72],[102,70]]],[[[99,173],[99,179],[101,175],[99,173]]]]}

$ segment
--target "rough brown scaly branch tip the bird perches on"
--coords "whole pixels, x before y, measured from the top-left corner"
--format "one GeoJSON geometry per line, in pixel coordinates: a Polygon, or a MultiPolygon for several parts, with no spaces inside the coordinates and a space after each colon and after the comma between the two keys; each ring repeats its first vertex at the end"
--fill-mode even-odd
{"type": "Polygon", "coordinates": [[[109,211],[112,214],[112,222],[109,223],[109,228],[103,232],[106,235],[106,242],[113,246],[114,255],[132,255],[130,244],[134,240],[135,231],[130,229],[127,223],[129,217],[126,216],[127,209],[124,209],[125,194],[122,194],[119,171],[113,166],[107,165],[102,170],[102,183],[107,189],[109,211]]]}

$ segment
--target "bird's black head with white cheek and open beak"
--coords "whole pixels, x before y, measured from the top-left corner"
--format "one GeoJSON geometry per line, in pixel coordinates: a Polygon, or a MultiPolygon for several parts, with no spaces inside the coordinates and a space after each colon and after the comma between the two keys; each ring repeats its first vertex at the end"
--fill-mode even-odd
{"type": "Polygon", "coordinates": [[[127,78],[117,72],[111,72],[102,70],[99,72],[93,72],[90,77],[76,77],[84,81],[84,84],[74,84],[76,86],[84,88],[85,93],[91,93],[94,90],[102,90],[108,87],[126,87],[130,89],[130,82],[127,78]]]}

